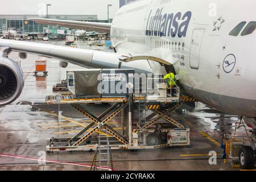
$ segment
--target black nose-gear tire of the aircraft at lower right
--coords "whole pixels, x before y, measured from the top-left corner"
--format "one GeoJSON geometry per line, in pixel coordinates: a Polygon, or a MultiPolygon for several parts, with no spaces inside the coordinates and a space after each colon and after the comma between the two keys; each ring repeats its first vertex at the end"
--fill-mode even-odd
{"type": "Polygon", "coordinates": [[[254,151],[250,146],[242,146],[239,152],[239,162],[242,169],[254,168],[254,151]]]}

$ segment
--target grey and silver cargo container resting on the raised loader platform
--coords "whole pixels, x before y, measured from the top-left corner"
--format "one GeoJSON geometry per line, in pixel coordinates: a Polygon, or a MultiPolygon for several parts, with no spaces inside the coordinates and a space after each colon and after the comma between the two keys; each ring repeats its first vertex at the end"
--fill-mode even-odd
{"type": "Polygon", "coordinates": [[[133,84],[134,72],[134,69],[67,71],[68,90],[77,98],[127,97],[127,83],[133,84]]]}

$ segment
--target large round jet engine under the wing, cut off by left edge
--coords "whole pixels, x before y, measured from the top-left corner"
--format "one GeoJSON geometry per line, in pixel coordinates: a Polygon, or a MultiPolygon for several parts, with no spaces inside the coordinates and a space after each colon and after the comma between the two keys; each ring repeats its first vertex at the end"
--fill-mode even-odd
{"type": "Polygon", "coordinates": [[[24,86],[23,72],[14,60],[0,53],[0,105],[15,101],[24,86]]]}

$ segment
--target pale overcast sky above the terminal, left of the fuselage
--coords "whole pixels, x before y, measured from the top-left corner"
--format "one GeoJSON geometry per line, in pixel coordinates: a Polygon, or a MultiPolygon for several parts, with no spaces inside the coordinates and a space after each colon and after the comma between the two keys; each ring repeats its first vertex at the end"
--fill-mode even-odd
{"type": "Polygon", "coordinates": [[[119,9],[119,0],[1,0],[0,15],[46,14],[46,4],[51,4],[49,14],[98,15],[98,19],[113,18],[119,9]]]}

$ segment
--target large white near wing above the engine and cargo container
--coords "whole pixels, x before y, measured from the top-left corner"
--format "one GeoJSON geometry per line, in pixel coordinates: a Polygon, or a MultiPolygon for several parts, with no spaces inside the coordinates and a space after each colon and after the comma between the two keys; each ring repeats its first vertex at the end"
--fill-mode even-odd
{"type": "Polygon", "coordinates": [[[1,47],[9,48],[10,51],[27,52],[38,56],[55,58],[85,68],[118,68],[119,57],[122,56],[114,52],[103,52],[6,39],[0,39],[0,48],[1,47]]]}

